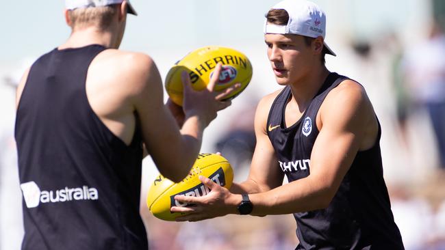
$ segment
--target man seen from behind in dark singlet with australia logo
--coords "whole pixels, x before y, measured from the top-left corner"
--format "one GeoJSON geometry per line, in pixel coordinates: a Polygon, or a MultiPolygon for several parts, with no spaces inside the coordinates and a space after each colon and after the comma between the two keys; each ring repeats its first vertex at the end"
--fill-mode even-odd
{"type": "Polygon", "coordinates": [[[213,91],[220,66],[202,92],[185,73],[179,130],[153,60],[118,50],[127,13],[136,14],[126,0],[66,0],[71,36],[21,79],[22,249],[148,249],[139,214],[142,144],[160,173],[180,181],[204,128],[230,105],[220,100],[231,89],[213,91]]]}

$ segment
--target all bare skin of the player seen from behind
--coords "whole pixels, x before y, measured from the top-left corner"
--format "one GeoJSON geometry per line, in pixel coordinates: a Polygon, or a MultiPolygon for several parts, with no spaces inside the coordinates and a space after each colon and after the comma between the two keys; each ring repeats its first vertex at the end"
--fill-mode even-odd
{"type": "MultiPolygon", "coordinates": [[[[153,59],[144,53],[118,50],[127,23],[127,2],[123,1],[112,8],[116,12],[110,17],[107,27],[100,27],[94,22],[78,26],[71,20],[69,11],[65,10],[71,35],[58,49],[91,44],[109,48],[94,57],[88,68],[85,88],[90,107],[126,145],[133,140],[136,123],[139,122],[144,147],[157,169],[166,178],[181,181],[188,175],[199,153],[204,128],[216,118],[217,111],[231,105],[230,101],[222,100],[240,85],[221,92],[214,91],[222,67],[218,64],[215,77],[210,80],[207,89],[194,91],[190,77],[185,73],[182,79],[185,89],[183,107],[172,102],[164,105],[162,77],[153,59]],[[175,152],[176,157],[166,154],[169,150],[175,152]]],[[[18,85],[16,105],[28,73],[29,69],[18,85]]]]}

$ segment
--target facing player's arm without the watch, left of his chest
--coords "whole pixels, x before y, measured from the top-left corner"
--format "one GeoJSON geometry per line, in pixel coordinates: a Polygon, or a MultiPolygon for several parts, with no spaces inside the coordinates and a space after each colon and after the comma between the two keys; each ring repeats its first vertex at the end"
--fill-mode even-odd
{"type": "Polygon", "coordinates": [[[268,111],[277,94],[263,98],[255,113],[255,136],[257,144],[253,152],[251,169],[246,181],[233,183],[232,193],[261,193],[274,189],[283,183],[283,173],[277,165],[275,150],[266,132],[268,111]]]}

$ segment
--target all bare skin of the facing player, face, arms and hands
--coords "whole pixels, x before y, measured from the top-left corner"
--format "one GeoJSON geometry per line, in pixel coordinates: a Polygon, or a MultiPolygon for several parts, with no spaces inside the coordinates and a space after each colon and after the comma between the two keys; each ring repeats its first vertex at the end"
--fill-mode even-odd
{"type": "MultiPolygon", "coordinates": [[[[323,38],[310,44],[298,35],[266,34],[267,55],[279,85],[289,85],[292,97],[285,106],[285,126],[295,124],[316,95],[329,70],[321,61],[323,38]]],[[[372,105],[363,87],[345,80],[329,92],[316,115],[320,131],[310,158],[307,178],[283,184],[283,171],[277,165],[275,149],[267,134],[268,112],[281,92],[268,94],[255,113],[257,145],[249,177],[233,183],[230,191],[208,178],[201,182],[212,191],[203,197],[176,196],[179,202],[194,204],[173,207],[186,213],[177,221],[200,221],[225,214],[237,214],[241,193],[249,193],[251,215],[290,214],[327,208],[359,150],[372,147],[378,126],[372,105]]]]}

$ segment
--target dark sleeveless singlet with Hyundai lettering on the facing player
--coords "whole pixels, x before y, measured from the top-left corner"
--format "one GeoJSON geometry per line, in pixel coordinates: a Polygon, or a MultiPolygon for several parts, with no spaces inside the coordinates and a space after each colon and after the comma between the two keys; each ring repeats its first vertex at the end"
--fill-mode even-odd
{"type": "MultiPolygon", "coordinates": [[[[289,182],[310,173],[310,156],[318,136],[316,115],[327,94],[347,79],[331,73],[298,122],[285,128],[286,86],[270,108],[268,137],[289,182]],[[276,126],[276,128],[274,128],[276,126]]],[[[294,214],[300,241],[296,249],[403,249],[383,180],[379,135],[372,148],[357,152],[328,208],[294,214]]],[[[320,166],[322,167],[322,166],[320,166]]]]}

